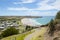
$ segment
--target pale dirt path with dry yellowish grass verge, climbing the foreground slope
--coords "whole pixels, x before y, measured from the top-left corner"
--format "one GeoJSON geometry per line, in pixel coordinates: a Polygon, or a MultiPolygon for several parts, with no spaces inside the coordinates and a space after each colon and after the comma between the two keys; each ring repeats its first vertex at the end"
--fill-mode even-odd
{"type": "Polygon", "coordinates": [[[43,35],[46,32],[46,30],[47,30],[46,27],[35,29],[35,32],[26,36],[24,40],[36,40],[36,38],[39,35],[43,35]]]}

